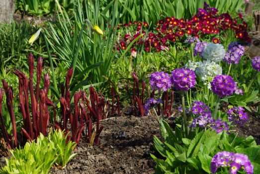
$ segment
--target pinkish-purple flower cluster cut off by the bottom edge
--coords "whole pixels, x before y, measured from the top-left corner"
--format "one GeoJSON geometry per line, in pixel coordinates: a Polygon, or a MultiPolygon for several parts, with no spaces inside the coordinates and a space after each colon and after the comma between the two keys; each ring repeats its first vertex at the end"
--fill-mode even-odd
{"type": "Polygon", "coordinates": [[[247,174],[254,173],[254,166],[247,155],[234,152],[218,152],[211,160],[211,172],[215,174],[221,167],[230,168],[230,174],[237,174],[241,169],[247,174]]]}

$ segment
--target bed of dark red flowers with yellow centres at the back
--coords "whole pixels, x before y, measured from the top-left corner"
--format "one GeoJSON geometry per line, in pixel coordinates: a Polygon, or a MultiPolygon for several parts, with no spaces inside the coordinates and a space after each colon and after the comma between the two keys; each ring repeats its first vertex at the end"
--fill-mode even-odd
{"type": "MultiPolygon", "coordinates": [[[[210,8],[207,4],[204,8],[199,8],[196,15],[190,20],[176,19],[175,17],[166,17],[157,22],[153,31],[143,34],[132,46],[132,50],[138,49],[138,46],[144,44],[145,51],[161,51],[169,49],[169,46],[177,41],[183,41],[188,35],[197,38],[211,38],[212,42],[219,43],[219,35],[222,30],[233,30],[238,40],[250,42],[248,36],[248,26],[241,15],[232,18],[228,13],[218,14],[216,8],[210,8]]],[[[119,43],[116,43],[114,49],[125,50],[128,45],[141,33],[145,33],[148,28],[146,22],[130,22],[128,24],[118,25],[119,31],[133,29],[124,35],[119,36],[119,43]],[[121,30],[122,29],[122,30],[121,30]]],[[[132,52],[132,51],[131,51],[132,52]]]]}

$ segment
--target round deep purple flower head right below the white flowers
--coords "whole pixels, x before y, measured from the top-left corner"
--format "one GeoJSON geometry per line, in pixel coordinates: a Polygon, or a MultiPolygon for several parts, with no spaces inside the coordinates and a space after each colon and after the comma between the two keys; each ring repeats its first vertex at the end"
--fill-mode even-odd
{"type": "Polygon", "coordinates": [[[231,95],[237,89],[237,84],[228,75],[215,76],[210,84],[213,93],[220,97],[231,95]]]}

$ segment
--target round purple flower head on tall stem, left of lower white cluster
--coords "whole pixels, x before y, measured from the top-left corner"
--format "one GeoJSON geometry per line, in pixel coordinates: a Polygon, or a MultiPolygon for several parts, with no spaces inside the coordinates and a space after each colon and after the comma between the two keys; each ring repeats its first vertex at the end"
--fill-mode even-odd
{"type": "Polygon", "coordinates": [[[172,71],[171,82],[177,90],[187,91],[195,86],[196,75],[188,68],[175,69],[172,71]]]}

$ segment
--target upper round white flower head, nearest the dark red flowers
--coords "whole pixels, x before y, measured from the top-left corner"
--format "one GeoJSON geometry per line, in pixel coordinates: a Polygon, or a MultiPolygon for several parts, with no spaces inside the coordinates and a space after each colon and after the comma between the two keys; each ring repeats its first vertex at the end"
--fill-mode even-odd
{"type": "Polygon", "coordinates": [[[224,59],[225,53],[226,51],[223,45],[214,44],[211,42],[203,50],[202,56],[206,60],[211,60],[213,62],[218,63],[224,59]]]}

